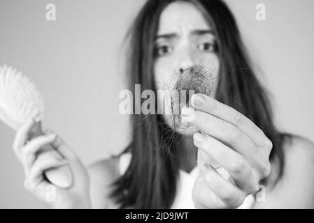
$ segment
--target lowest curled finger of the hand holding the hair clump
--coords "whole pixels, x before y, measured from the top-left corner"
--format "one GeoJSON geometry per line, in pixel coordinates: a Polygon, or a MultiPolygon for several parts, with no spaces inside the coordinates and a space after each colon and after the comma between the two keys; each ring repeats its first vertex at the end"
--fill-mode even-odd
{"type": "Polygon", "coordinates": [[[247,194],[238,187],[224,179],[218,172],[208,164],[200,167],[201,176],[208,188],[229,208],[241,206],[247,194]]]}

